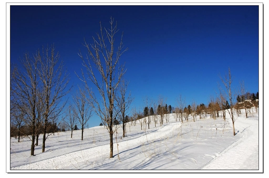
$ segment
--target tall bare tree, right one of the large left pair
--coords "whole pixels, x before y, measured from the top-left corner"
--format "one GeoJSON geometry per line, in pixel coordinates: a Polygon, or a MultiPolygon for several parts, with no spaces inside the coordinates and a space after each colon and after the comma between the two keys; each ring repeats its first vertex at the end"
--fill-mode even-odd
{"type": "Polygon", "coordinates": [[[45,141],[49,134],[46,136],[49,120],[55,119],[60,116],[67,101],[63,101],[63,97],[70,92],[67,89],[69,77],[67,70],[64,69],[63,61],[60,60],[59,53],[55,53],[55,48],[44,49],[42,54],[40,51],[34,56],[37,61],[40,61],[40,68],[38,74],[41,79],[42,93],[44,95],[44,123],[43,123],[43,142],[42,152],[45,151],[45,141]]]}

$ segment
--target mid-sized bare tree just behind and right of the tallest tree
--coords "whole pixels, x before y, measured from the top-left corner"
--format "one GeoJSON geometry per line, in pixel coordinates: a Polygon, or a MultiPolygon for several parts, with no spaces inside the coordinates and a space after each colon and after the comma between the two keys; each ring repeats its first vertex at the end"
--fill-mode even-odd
{"type": "Polygon", "coordinates": [[[123,130],[123,134],[122,137],[126,137],[125,135],[125,113],[126,111],[129,109],[130,104],[132,103],[133,99],[131,97],[131,92],[129,93],[129,95],[126,97],[126,92],[127,92],[127,86],[128,83],[126,81],[122,81],[121,85],[119,87],[119,92],[117,97],[115,98],[117,101],[117,105],[118,105],[118,110],[119,110],[119,115],[120,115],[120,121],[122,121],[122,130],[123,130]]]}

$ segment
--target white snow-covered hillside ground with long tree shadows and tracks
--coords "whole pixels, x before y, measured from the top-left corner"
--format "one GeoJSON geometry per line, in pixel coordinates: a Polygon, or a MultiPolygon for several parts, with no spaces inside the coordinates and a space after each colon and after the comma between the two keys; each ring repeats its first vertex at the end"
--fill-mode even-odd
{"type": "MultiPolygon", "coordinates": [[[[24,138],[10,140],[10,160],[7,153],[7,172],[263,172],[263,135],[259,112],[245,117],[245,110],[235,114],[232,121],[226,113],[214,120],[207,115],[195,122],[193,117],[183,124],[169,114],[169,122],[142,126],[126,126],[127,137],[121,138],[118,128],[114,137],[114,158],[109,157],[109,135],[104,126],[58,132],[50,135],[42,150],[42,135],[35,156],[30,156],[31,142],[24,138]],[[10,162],[9,162],[10,161],[10,162]],[[9,167],[10,165],[10,167],[9,167]],[[84,171],[83,171],[84,170],[84,171]]],[[[7,140],[8,142],[9,140],[7,140]]],[[[9,145],[8,145],[9,146],[9,145]]]]}

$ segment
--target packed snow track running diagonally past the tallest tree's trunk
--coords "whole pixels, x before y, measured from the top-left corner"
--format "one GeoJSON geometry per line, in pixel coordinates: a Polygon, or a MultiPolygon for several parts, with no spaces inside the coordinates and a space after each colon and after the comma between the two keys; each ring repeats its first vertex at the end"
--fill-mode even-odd
{"type": "MultiPolygon", "coordinates": [[[[171,123],[169,125],[164,125],[164,127],[158,129],[157,132],[149,132],[139,138],[131,139],[127,141],[118,142],[120,149],[130,149],[132,145],[143,144],[149,141],[155,141],[161,138],[167,138],[171,135],[168,135],[170,131],[178,128],[178,125],[181,123],[171,123]]],[[[113,152],[116,151],[116,143],[113,144],[113,152]]],[[[68,166],[73,166],[78,163],[90,163],[91,158],[95,158],[96,155],[108,155],[109,153],[109,144],[96,146],[94,148],[84,149],[72,153],[67,153],[65,155],[56,156],[54,158],[49,158],[34,163],[12,167],[11,170],[63,170],[68,166]],[[60,166],[61,165],[61,166],[60,166]]],[[[81,165],[81,164],[80,164],[81,165]]]]}

